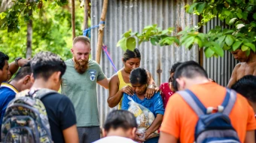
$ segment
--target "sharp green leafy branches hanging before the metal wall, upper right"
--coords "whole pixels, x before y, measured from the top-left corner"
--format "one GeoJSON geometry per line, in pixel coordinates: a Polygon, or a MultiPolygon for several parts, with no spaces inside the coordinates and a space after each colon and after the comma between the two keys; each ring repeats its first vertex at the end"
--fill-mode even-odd
{"type": "Polygon", "coordinates": [[[247,54],[255,52],[256,0],[194,0],[192,5],[186,5],[185,8],[188,14],[202,17],[198,26],[186,28],[175,36],[171,35],[174,28],[162,31],[156,25],[146,26],[142,33],[124,33],[117,47],[133,50],[137,38],[139,44],[142,41],[151,41],[151,44],[160,46],[175,43],[184,45],[187,49],[197,44],[204,48],[207,57],[224,56],[224,50],[241,49],[247,54]],[[224,26],[215,26],[208,33],[200,33],[200,27],[215,17],[224,26]]]}

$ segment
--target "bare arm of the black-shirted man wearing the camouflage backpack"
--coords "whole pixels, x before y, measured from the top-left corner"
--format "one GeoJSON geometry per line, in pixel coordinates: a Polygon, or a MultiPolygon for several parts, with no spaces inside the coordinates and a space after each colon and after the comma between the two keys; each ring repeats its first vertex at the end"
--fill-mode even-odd
{"type": "Polygon", "coordinates": [[[69,128],[64,129],[62,132],[66,143],[79,142],[78,129],[76,125],[70,126],[69,128]]]}

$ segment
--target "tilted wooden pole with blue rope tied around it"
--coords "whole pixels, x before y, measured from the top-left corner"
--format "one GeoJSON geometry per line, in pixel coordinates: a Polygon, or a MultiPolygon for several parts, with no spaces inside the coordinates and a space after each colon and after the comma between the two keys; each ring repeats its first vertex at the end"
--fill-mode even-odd
{"type": "MultiPolygon", "coordinates": [[[[100,17],[100,21],[105,21],[105,16],[108,10],[108,0],[104,0],[103,7],[102,7],[102,15],[100,17]]],[[[96,52],[96,62],[100,62],[100,56],[102,54],[102,41],[103,41],[103,34],[104,34],[104,26],[105,24],[101,23],[99,25],[99,32],[98,32],[98,43],[97,43],[97,52],[96,52]]]]}

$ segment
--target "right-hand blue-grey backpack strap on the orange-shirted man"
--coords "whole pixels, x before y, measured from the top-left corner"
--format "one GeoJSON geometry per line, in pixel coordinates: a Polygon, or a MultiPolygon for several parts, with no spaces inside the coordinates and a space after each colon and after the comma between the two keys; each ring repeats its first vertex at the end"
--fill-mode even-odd
{"type": "Polygon", "coordinates": [[[223,114],[226,114],[228,116],[233,108],[233,105],[235,105],[235,102],[236,92],[234,90],[227,89],[227,94],[225,96],[224,102],[221,104],[221,106],[224,107],[223,114]]]}

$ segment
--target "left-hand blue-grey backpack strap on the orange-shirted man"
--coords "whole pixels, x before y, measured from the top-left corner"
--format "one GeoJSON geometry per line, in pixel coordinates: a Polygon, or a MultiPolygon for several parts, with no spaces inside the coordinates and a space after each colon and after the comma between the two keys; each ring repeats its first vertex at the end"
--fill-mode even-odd
{"type": "Polygon", "coordinates": [[[194,93],[192,93],[192,91],[178,91],[178,94],[184,99],[185,102],[187,102],[188,105],[190,105],[190,108],[194,110],[198,117],[200,117],[203,114],[206,114],[206,107],[202,104],[202,102],[200,102],[197,96],[194,95],[194,93]]]}

